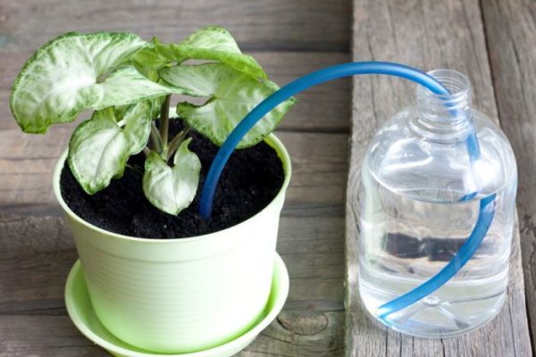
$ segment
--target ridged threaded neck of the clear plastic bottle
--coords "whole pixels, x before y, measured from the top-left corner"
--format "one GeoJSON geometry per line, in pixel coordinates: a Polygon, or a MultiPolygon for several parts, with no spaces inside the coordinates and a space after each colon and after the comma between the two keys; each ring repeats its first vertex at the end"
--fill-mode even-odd
{"type": "Polygon", "coordinates": [[[417,87],[416,115],[412,128],[428,139],[439,142],[463,140],[472,126],[471,82],[464,74],[451,70],[428,72],[448,88],[450,95],[435,95],[417,87]]]}

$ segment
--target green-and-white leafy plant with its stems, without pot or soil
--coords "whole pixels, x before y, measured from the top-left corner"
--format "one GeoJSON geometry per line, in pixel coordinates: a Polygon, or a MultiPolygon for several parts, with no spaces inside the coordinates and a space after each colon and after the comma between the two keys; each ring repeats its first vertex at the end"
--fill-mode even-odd
{"type": "MultiPolygon", "coordinates": [[[[156,37],[147,43],[130,33],[69,32],[41,46],[24,64],[10,107],[23,131],[40,134],[94,110],[69,143],[67,162],[80,187],[95,194],[121,178],[131,155],[143,152],[147,199],[177,215],[193,201],[201,170],[188,149],[188,131],[222,145],[239,120],[277,89],[220,27],[200,29],[178,44],[156,37]],[[175,137],[169,137],[172,94],[207,98],[201,105],[177,104],[184,129],[175,137]]],[[[239,148],[262,141],[292,104],[293,99],[267,114],[239,148]]]]}

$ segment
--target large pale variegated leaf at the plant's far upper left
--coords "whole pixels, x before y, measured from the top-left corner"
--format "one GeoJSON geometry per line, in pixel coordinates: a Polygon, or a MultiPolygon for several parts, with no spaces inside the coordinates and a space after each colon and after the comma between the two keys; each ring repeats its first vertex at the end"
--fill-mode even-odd
{"type": "Polygon", "coordinates": [[[69,32],[54,38],[29,58],[15,79],[13,116],[32,133],[74,120],[97,97],[96,79],[146,45],[128,33],[69,32]]]}

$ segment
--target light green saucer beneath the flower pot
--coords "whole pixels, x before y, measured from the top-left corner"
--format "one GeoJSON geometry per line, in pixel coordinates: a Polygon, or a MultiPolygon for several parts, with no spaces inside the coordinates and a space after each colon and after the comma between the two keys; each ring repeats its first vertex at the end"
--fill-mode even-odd
{"type": "Polygon", "coordinates": [[[217,347],[195,353],[162,354],[144,351],[122,342],[113,336],[96,318],[95,311],[89,301],[88,288],[80,261],[76,262],[69,273],[65,286],[65,304],[72,322],[80,332],[96,345],[103,347],[117,357],[223,357],[239,353],[249,345],[255,337],[274,320],[285,303],[289,294],[289,272],[279,254],[276,254],[272,291],[263,316],[255,326],[245,334],[217,347]]]}

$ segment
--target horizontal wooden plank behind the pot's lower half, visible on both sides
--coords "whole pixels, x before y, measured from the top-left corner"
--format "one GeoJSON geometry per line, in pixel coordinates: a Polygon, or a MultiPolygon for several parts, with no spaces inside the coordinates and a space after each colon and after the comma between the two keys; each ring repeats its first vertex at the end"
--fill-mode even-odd
{"type": "MultiPolygon", "coordinates": [[[[278,251],[291,272],[293,310],[343,310],[343,229],[340,216],[281,217],[278,251]]],[[[0,246],[0,314],[63,308],[63,285],[76,253],[62,217],[4,219],[0,246]],[[38,306],[41,301],[46,303],[38,306]]]]}

